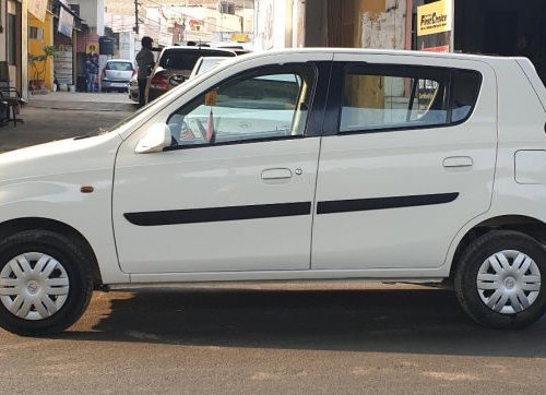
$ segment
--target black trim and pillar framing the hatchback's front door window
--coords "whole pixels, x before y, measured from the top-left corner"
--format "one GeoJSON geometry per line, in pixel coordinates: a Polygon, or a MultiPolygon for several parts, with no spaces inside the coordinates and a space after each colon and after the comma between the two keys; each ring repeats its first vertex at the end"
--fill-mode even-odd
{"type": "Polygon", "coordinates": [[[274,136],[274,137],[256,137],[256,139],[247,139],[247,140],[236,140],[228,142],[215,142],[214,144],[195,144],[195,145],[170,145],[163,148],[164,152],[170,151],[179,151],[179,149],[195,149],[195,148],[207,148],[215,146],[225,146],[225,145],[237,145],[237,144],[251,144],[251,143],[263,143],[263,142],[274,142],[281,140],[299,140],[306,137],[320,137],[322,136],[322,124],[325,117],[325,107],[328,100],[328,94],[330,88],[330,80],[332,75],[332,61],[308,61],[308,62],[283,62],[277,64],[268,64],[260,65],[253,69],[241,71],[237,74],[230,75],[229,79],[225,79],[217,84],[201,91],[191,99],[186,100],[185,104],[178,107],[177,110],[173,111],[168,117],[166,123],[168,124],[170,118],[182,107],[187,106],[191,101],[199,98],[199,96],[203,95],[206,92],[217,88],[218,86],[225,84],[226,82],[234,81],[241,76],[248,75],[262,75],[268,72],[278,72],[280,67],[294,67],[296,70],[297,67],[311,67],[314,73],[313,83],[311,88],[311,103],[308,109],[308,117],[306,121],[306,125],[304,128],[304,133],[298,135],[285,135],[285,136],[274,136]]]}

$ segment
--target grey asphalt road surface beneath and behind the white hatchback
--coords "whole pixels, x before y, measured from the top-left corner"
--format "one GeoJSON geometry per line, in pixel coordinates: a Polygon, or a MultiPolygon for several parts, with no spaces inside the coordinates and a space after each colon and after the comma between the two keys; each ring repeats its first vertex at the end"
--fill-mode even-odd
{"type": "MultiPolygon", "coordinates": [[[[24,108],[0,152],[129,113],[24,108]]],[[[270,285],[95,294],[67,333],[0,331],[2,393],[545,393],[546,318],[474,325],[450,291],[270,285]]]]}

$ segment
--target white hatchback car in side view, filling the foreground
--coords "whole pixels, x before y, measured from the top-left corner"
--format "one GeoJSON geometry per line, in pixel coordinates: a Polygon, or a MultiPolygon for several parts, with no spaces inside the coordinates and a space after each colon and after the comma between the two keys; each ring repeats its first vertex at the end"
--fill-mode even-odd
{"type": "Polygon", "coordinates": [[[546,89],[526,59],[248,55],[110,132],[0,155],[0,325],[64,330],[93,289],[453,285],[476,322],[545,312],[546,89]]]}

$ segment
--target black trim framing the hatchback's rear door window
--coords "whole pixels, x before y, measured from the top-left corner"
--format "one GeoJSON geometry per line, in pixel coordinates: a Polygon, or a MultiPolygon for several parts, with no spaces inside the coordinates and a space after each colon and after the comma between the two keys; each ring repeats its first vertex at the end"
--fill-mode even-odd
{"type": "Polygon", "coordinates": [[[368,134],[368,133],[383,133],[383,132],[399,132],[399,131],[412,131],[412,130],[426,130],[426,129],[440,129],[440,128],[452,128],[465,123],[474,113],[476,105],[478,103],[482,85],[484,81],[483,74],[474,69],[464,69],[464,68],[448,68],[448,67],[437,67],[437,65],[420,65],[420,64],[391,64],[391,63],[368,63],[368,62],[347,62],[347,61],[334,61],[332,65],[332,76],[331,76],[331,86],[333,87],[333,92],[329,95],[329,100],[327,104],[325,113],[329,116],[324,119],[323,127],[323,136],[329,135],[353,135],[353,134],[368,134]],[[435,123],[435,124],[425,124],[425,125],[407,125],[407,127],[392,127],[392,128],[377,128],[377,129],[363,129],[363,130],[354,130],[354,131],[340,131],[341,125],[341,115],[343,107],[343,88],[344,88],[344,77],[346,74],[346,70],[349,68],[361,68],[369,69],[371,75],[383,75],[383,73],[395,73],[395,76],[413,76],[418,77],[418,75],[412,75],[414,72],[418,72],[419,70],[429,70],[437,72],[438,74],[444,74],[444,80],[447,82],[446,92],[444,92],[444,104],[448,108],[447,121],[444,123],[435,123]],[[453,83],[453,73],[455,72],[471,72],[478,76],[478,86],[477,86],[477,95],[474,100],[474,105],[471,110],[466,115],[465,118],[452,122],[452,83],[453,83]],[[404,75],[407,74],[407,75],[404,75]]]}

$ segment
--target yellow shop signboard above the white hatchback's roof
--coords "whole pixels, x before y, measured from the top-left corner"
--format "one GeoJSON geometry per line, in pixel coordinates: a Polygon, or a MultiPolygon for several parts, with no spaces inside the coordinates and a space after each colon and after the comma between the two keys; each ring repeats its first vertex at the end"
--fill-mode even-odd
{"type": "Polygon", "coordinates": [[[417,7],[417,49],[449,52],[452,27],[453,0],[439,0],[417,7]]]}

